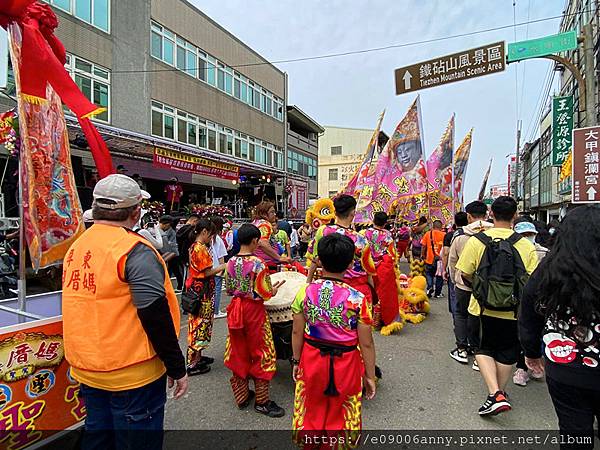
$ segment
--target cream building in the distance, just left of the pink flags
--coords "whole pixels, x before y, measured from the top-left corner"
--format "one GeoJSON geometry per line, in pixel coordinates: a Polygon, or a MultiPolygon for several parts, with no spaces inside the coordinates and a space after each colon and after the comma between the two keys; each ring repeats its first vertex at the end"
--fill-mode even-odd
{"type": "Polygon", "coordinates": [[[332,197],[358,169],[373,130],[325,126],[319,138],[319,197],[332,197]]]}

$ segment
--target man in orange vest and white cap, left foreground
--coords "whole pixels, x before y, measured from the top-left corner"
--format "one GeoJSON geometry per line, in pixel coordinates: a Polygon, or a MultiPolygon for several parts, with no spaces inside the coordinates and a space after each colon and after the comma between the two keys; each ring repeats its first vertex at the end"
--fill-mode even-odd
{"type": "Polygon", "coordinates": [[[188,387],[169,272],[131,231],[141,200],[126,175],[100,180],[94,225],[63,261],[65,356],[87,409],[83,448],[162,448],[167,380],[175,398],[188,387]]]}

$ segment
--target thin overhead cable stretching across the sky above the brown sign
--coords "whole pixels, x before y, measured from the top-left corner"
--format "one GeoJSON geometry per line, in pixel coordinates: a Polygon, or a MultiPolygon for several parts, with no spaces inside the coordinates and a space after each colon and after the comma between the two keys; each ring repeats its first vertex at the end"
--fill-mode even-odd
{"type": "MultiPolygon", "coordinates": [[[[587,12],[592,12],[592,10],[588,10],[587,12]]],[[[516,28],[516,27],[529,25],[532,23],[540,23],[540,22],[547,22],[549,20],[561,19],[565,16],[571,16],[571,15],[576,15],[576,14],[579,14],[579,13],[561,14],[560,16],[544,17],[541,19],[529,20],[526,22],[512,23],[510,25],[502,25],[502,26],[493,27],[493,28],[486,28],[483,30],[470,31],[468,33],[459,33],[459,34],[453,34],[453,35],[449,35],[449,36],[424,39],[421,41],[405,42],[402,44],[391,44],[391,45],[385,45],[382,47],[373,47],[373,48],[367,48],[367,49],[362,49],[362,50],[353,50],[353,51],[340,52],[340,53],[329,53],[329,54],[325,54],[325,55],[307,56],[307,57],[303,57],[303,58],[289,58],[289,59],[280,59],[280,60],[275,60],[275,61],[260,61],[260,62],[255,62],[255,63],[236,64],[236,65],[228,65],[228,66],[233,69],[237,69],[237,68],[243,68],[243,67],[264,66],[264,65],[272,65],[272,64],[287,64],[287,63],[302,62],[302,61],[315,61],[315,60],[319,60],[319,59],[337,58],[337,57],[341,57],[341,56],[360,55],[360,54],[364,54],[364,53],[380,52],[380,51],[391,50],[391,49],[396,49],[396,48],[412,47],[415,45],[431,44],[433,42],[447,41],[450,39],[456,39],[456,38],[468,37],[468,36],[475,36],[477,34],[491,33],[493,31],[505,30],[505,29],[511,28],[511,27],[516,28]]],[[[208,69],[209,68],[203,68],[202,70],[206,71],[208,69]]],[[[200,70],[200,68],[195,67],[195,68],[190,68],[190,69],[186,69],[186,70],[198,71],[198,70],[200,70]]],[[[182,71],[182,69],[177,69],[174,67],[174,68],[170,68],[170,69],[115,70],[115,71],[112,71],[111,74],[114,75],[114,74],[127,74],[127,73],[181,72],[181,71],[182,71]]]]}

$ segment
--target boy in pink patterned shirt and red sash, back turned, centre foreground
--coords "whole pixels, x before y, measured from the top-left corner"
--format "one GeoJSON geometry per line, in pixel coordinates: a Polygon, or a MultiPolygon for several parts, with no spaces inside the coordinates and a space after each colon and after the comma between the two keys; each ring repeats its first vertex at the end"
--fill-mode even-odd
{"type": "Polygon", "coordinates": [[[318,253],[323,278],[301,289],[292,305],[292,428],[298,442],[306,442],[310,430],[358,432],[363,387],[367,399],[376,390],[370,307],[344,282],[344,272],[353,266],[354,243],[332,233],[319,241],[318,253]]]}

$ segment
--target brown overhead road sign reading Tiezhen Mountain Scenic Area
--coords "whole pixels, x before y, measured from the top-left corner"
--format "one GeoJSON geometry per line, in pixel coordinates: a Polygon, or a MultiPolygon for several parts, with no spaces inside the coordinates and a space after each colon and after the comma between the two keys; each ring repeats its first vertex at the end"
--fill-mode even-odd
{"type": "Polygon", "coordinates": [[[506,68],[504,41],[395,70],[396,95],[480,77],[506,68]]]}

